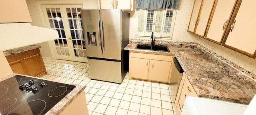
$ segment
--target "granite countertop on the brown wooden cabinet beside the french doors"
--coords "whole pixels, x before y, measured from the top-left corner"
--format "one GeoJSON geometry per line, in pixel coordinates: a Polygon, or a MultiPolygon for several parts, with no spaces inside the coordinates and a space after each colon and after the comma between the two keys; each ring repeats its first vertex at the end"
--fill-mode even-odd
{"type": "Polygon", "coordinates": [[[20,48],[14,48],[14,49],[11,49],[11,50],[4,51],[4,55],[5,56],[10,56],[12,54],[18,54],[18,53],[26,52],[26,51],[29,51],[29,50],[34,50],[36,48],[41,48],[41,46],[30,45],[30,46],[24,46],[24,47],[20,47],[20,48]]]}

